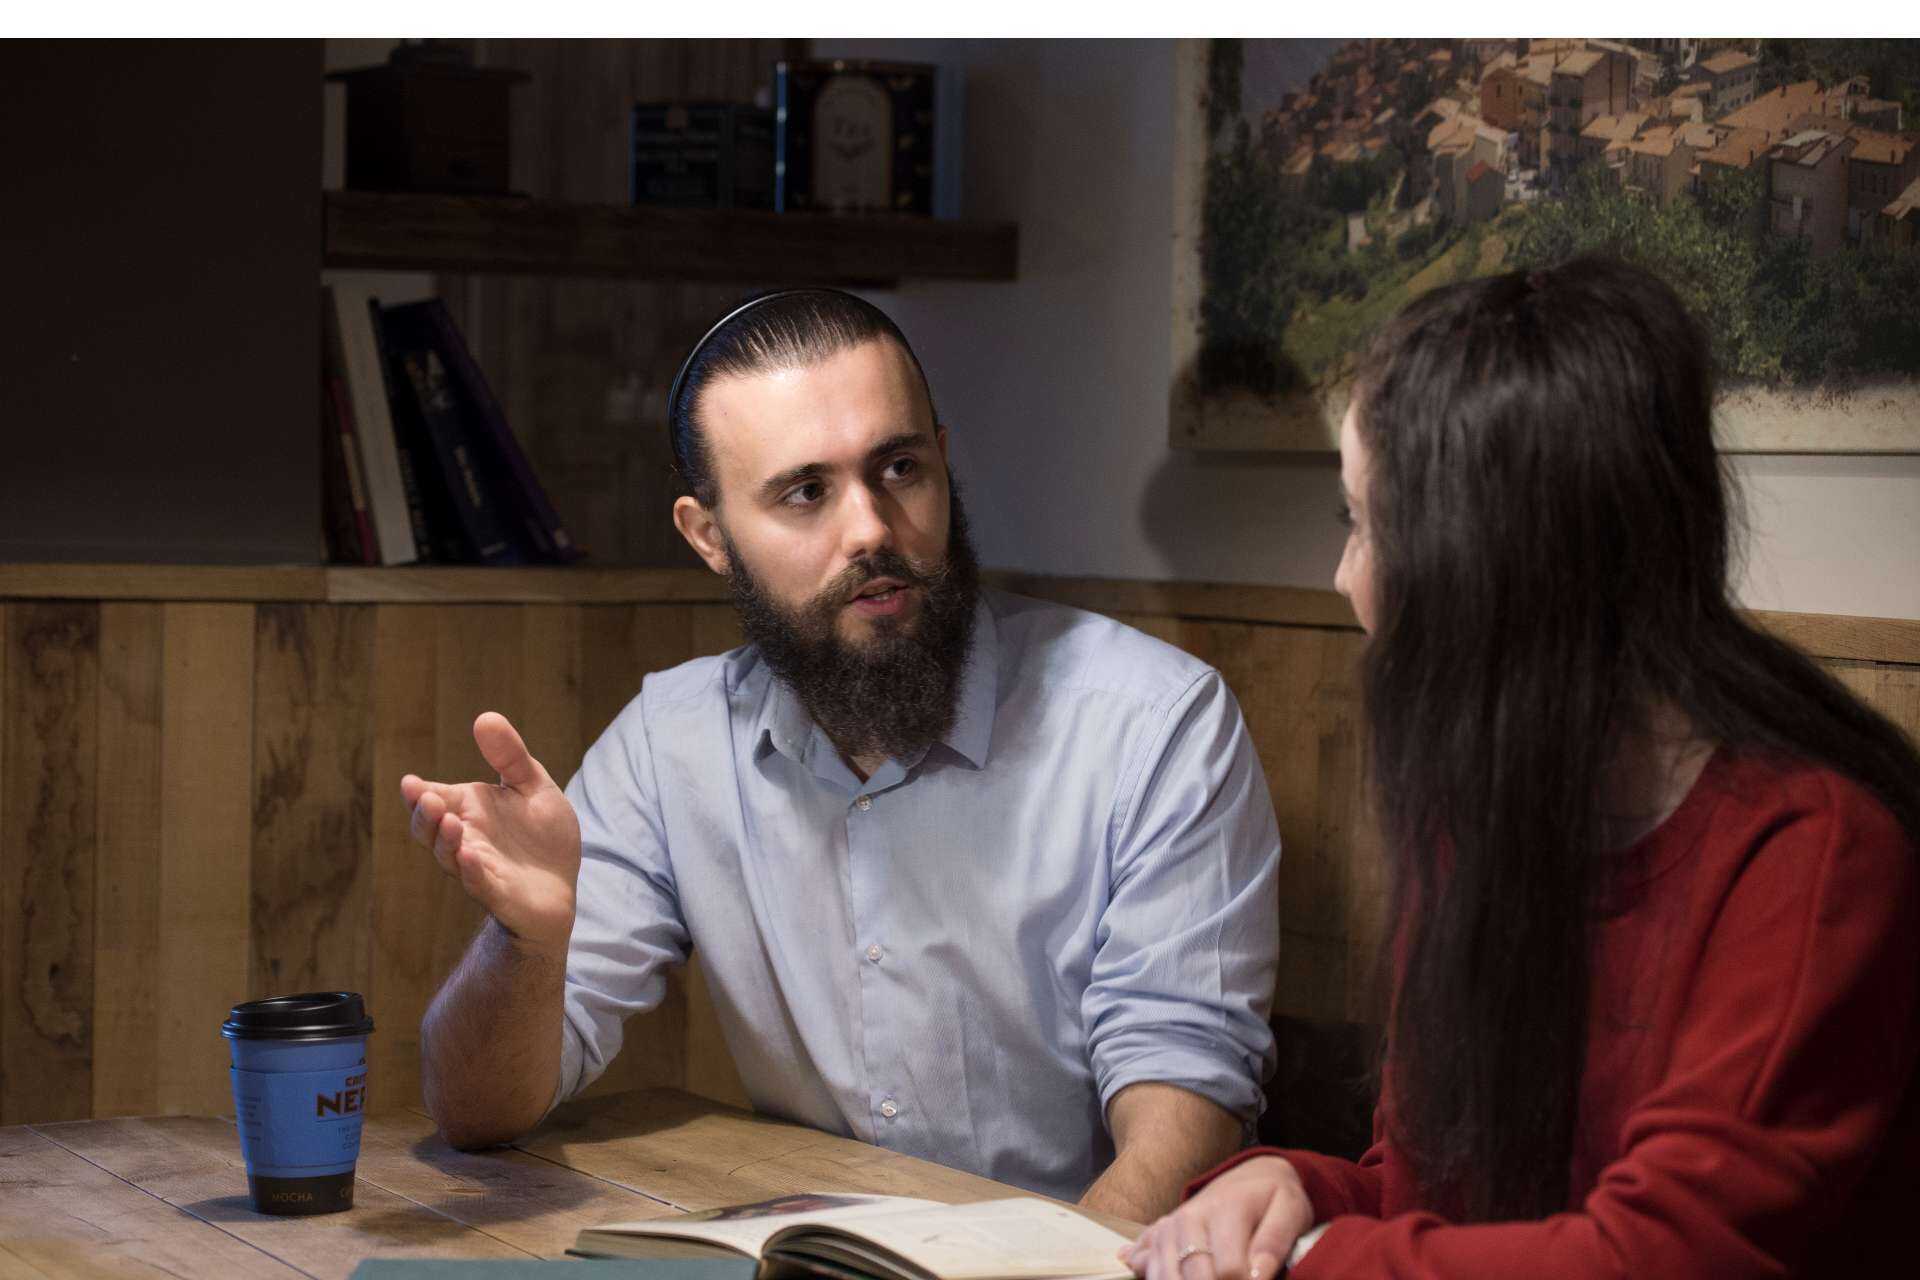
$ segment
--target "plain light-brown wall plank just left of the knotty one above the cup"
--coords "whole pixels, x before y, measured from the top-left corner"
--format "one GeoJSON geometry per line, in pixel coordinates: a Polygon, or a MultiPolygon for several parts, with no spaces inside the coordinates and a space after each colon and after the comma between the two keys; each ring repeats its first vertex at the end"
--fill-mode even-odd
{"type": "Polygon", "coordinates": [[[161,1111],[232,1109],[227,1011],[250,983],[253,608],[167,604],[161,614],[159,1009],[161,1111]]]}

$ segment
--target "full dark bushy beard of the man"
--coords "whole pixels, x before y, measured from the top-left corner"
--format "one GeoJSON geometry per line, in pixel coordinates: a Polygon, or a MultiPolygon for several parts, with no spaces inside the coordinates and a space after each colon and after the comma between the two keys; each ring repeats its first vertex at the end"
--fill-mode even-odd
{"type": "Polygon", "coordinates": [[[960,486],[948,476],[947,558],[920,564],[881,551],[849,564],[797,610],[768,595],[726,537],[728,585],[741,629],[774,676],[847,756],[910,760],[939,741],[958,714],[960,677],[973,645],[979,562],[968,537],[960,486]],[[876,578],[920,587],[920,610],[876,618],[872,639],[851,643],[835,628],[854,593],[876,578]]]}

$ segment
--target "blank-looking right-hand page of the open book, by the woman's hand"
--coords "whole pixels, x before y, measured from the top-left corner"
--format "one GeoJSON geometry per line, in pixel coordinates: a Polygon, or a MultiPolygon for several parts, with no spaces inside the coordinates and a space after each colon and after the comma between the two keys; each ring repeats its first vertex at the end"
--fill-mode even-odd
{"type": "MultiPolygon", "coordinates": [[[[1119,1263],[1127,1238],[1044,1199],[943,1205],[937,1213],[889,1213],[833,1224],[899,1253],[943,1280],[1000,1276],[1131,1276],[1119,1263]]],[[[795,1226],[795,1251],[812,1230],[795,1226]]],[[[787,1240],[774,1240],[785,1247],[787,1240]]]]}

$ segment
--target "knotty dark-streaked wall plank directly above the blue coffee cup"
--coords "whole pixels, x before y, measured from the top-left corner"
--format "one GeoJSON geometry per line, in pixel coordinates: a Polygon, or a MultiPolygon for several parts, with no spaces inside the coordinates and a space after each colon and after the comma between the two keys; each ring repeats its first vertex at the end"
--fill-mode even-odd
{"type": "Polygon", "coordinates": [[[372,606],[255,610],[257,992],[367,990],[372,714],[372,606]]]}

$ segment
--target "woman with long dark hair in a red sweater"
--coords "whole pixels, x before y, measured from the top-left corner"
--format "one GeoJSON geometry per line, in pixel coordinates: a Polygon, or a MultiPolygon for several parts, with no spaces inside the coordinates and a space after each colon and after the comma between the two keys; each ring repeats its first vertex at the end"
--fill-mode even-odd
{"type": "Polygon", "coordinates": [[[1607,259],[1434,290],[1340,438],[1392,875],[1375,1146],[1152,1280],[1910,1274],[1920,756],[1728,589],[1707,342],[1607,259]]]}

